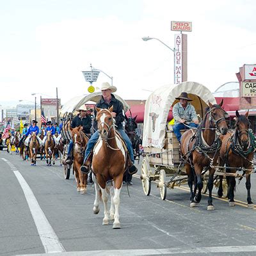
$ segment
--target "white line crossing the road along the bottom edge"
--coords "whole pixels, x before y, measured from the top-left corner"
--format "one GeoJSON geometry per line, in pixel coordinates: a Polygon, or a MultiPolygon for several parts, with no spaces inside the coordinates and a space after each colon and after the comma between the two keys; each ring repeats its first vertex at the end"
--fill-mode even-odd
{"type": "MultiPolygon", "coordinates": [[[[195,253],[237,253],[237,252],[256,252],[255,245],[249,246],[214,246],[214,247],[200,247],[200,248],[164,248],[164,249],[139,249],[139,250],[102,250],[102,251],[86,251],[86,252],[65,252],[54,253],[58,256],[119,256],[119,255],[163,255],[163,254],[192,254],[195,253]]],[[[19,256],[43,256],[45,254],[24,254],[19,256]]]]}

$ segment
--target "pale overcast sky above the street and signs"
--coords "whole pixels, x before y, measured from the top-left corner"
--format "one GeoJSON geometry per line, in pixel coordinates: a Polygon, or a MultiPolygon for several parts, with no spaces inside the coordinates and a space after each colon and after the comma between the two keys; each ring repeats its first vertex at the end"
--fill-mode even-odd
{"type": "MultiPolygon", "coordinates": [[[[124,99],[147,99],[173,83],[172,20],[193,22],[188,32],[188,81],[214,92],[256,63],[255,1],[9,0],[0,8],[0,104],[56,95],[62,103],[87,93],[81,70],[113,76],[124,99]],[[39,97],[39,95],[38,95],[39,97]]],[[[100,74],[94,86],[103,81],[100,74]]]]}

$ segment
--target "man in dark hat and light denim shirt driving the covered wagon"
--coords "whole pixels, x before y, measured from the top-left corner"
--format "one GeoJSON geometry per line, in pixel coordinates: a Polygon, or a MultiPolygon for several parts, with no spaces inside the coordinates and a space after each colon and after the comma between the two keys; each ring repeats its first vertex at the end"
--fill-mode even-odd
{"type": "Polygon", "coordinates": [[[189,99],[188,93],[182,92],[180,96],[175,99],[179,99],[180,101],[177,102],[172,109],[172,115],[175,121],[173,125],[173,132],[180,143],[180,130],[197,127],[198,118],[194,106],[188,102],[192,101],[189,99]]]}

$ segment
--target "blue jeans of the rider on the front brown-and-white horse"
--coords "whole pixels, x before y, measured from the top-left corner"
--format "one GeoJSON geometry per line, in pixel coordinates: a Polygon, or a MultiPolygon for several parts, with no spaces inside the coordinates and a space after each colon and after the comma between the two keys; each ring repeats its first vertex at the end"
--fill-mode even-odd
{"type": "MultiPolygon", "coordinates": [[[[118,132],[124,139],[125,145],[127,147],[129,155],[131,157],[131,161],[132,161],[132,163],[134,163],[133,148],[132,148],[131,140],[129,139],[129,137],[127,136],[127,134],[125,133],[125,131],[123,129],[118,129],[118,132]]],[[[99,139],[99,131],[97,130],[93,133],[92,137],[90,138],[90,140],[87,143],[85,154],[84,154],[84,163],[86,162],[90,152],[92,151],[92,149],[98,139],[99,139]]]]}

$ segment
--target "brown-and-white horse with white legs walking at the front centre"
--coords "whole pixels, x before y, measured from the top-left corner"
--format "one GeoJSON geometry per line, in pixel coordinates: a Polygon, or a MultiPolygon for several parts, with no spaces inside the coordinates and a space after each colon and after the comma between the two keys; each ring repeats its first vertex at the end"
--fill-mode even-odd
{"type": "Polygon", "coordinates": [[[95,108],[99,140],[93,148],[92,172],[95,184],[95,201],[93,213],[98,214],[99,200],[104,204],[102,225],[108,225],[109,219],[114,220],[113,228],[121,228],[119,221],[120,193],[126,168],[127,152],[120,136],[115,130],[115,121],[111,115],[113,106],[109,109],[95,108]],[[108,180],[113,180],[110,189],[108,180]],[[114,193],[113,193],[114,190],[114,193]],[[108,209],[108,194],[111,195],[111,207],[108,209]],[[115,207],[114,207],[115,206],[115,207]]]}

